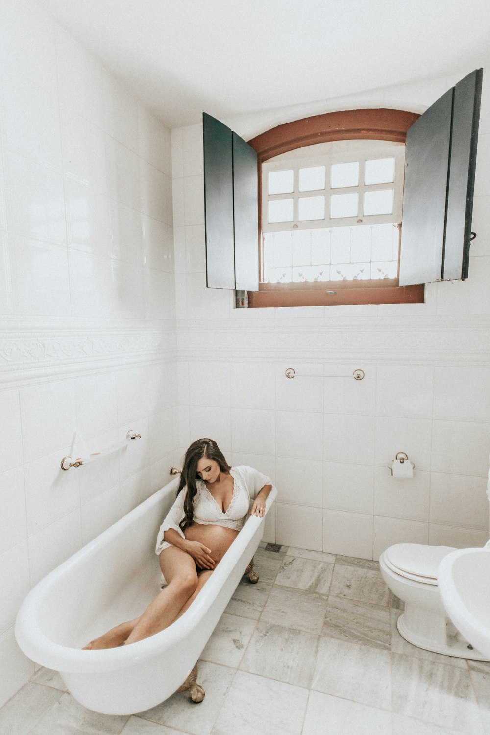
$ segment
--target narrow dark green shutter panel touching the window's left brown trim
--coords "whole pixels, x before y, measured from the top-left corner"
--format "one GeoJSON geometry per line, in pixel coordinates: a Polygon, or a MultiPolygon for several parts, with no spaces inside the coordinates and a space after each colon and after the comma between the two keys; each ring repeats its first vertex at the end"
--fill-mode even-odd
{"type": "Polygon", "coordinates": [[[259,207],[257,154],[233,134],[235,288],[259,290],[259,207]]]}

